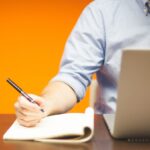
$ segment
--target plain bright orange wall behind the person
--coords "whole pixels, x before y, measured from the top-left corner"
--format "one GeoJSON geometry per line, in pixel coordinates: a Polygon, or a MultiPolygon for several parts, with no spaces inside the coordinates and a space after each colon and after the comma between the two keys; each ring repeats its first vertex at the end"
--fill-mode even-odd
{"type": "MultiPolygon", "coordinates": [[[[40,94],[57,74],[65,42],[90,0],[0,0],[0,113],[14,113],[18,93],[40,94]]],[[[88,106],[88,94],[72,111],[88,106]]]]}

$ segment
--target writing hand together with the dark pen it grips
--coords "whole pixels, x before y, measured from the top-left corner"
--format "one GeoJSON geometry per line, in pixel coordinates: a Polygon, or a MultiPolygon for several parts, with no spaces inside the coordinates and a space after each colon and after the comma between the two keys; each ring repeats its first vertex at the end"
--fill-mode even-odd
{"type": "Polygon", "coordinates": [[[25,93],[16,83],[11,79],[7,82],[14,87],[22,96],[19,96],[15,103],[16,116],[18,122],[26,127],[35,126],[46,116],[45,99],[43,97],[25,93]]]}

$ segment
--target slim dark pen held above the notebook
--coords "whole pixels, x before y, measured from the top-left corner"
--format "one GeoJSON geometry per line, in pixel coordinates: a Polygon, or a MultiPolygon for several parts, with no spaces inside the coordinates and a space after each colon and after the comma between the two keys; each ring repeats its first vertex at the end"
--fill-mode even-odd
{"type": "MultiPolygon", "coordinates": [[[[22,96],[24,96],[29,102],[37,104],[26,92],[24,92],[16,83],[11,79],[6,80],[14,89],[16,89],[22,96]]],[[[38,104],[37,104],[38,105],[38,104]]],[[[44,112],[44,109],[40,108],[41,112],[44,112]]]]}

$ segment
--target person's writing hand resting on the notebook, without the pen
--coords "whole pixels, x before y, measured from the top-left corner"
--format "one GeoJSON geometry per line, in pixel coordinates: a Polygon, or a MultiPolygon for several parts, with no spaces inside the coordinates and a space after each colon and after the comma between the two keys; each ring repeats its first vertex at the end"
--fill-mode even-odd
{"type": "Polygon", "coordinates": [[[43,98],[33,94],[30,96],[41,106],[29,102],[22,96],[14,105],[18,122],[26,127],[35,126],[44,116],[44,113],[40,111],[40,108],[44,106],[43,98]]]}

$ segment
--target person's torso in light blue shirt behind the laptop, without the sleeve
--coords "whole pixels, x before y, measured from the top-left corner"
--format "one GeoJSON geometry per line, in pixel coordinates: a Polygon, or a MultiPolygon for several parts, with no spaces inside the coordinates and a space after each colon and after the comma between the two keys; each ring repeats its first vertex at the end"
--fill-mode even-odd
{"type": "MultiPolygon", "coordinates": [[[[117,84],[123,49],[150,49],[150,14],[145,15],[142,0],[97,0],[105,26],[105,59],[97,72],[100,99],[97,113],[116,109],[117,84]]],[[[137,66],[138,69],[138,66],[137,66]]]]}

